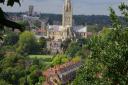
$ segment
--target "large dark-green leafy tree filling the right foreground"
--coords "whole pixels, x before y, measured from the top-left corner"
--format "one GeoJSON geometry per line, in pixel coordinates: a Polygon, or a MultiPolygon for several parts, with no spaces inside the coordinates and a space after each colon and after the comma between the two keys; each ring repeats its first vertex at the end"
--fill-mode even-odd
{"type": "Polygon", "coordinates": [[[121,25],[114,10],[110,10],[114,29],[90,40],[88,48],[91,53],[73,85],[128,84],[128,30],[121,25]]]}

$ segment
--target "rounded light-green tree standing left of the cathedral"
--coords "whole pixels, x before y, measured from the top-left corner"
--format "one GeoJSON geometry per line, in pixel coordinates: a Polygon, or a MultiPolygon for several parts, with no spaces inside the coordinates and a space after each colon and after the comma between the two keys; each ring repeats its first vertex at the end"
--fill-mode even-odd
{"type": "Polygon", "coordinates": [[[37,53],[38,50],[40,50],[40,48],[34,33],[28,31],[23,32],[19,38],[17,52],[23,54],[33,54],[37,53]]]}

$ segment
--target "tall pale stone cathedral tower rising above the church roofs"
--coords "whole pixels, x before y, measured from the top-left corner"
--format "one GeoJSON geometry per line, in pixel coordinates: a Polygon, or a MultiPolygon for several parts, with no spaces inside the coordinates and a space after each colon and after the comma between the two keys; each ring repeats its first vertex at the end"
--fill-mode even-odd
{"type": "Polygon", "coordinates": [[[63,27],[72,27],[72,5],[71,0],[65,0],[64,2],[64,13],[62,19],[63,27]]]}

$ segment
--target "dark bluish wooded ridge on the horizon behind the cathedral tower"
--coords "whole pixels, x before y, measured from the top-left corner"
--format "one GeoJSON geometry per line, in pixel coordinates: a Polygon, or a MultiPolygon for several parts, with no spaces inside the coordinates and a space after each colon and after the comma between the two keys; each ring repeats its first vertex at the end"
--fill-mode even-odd
{"type": "MultiPolygon", "coordinates": [[[[41,14],[41,19],[49,18],[50,24],[53,24],[54,21],[61,22],[61,14],[41,14]]],[[[75,25],[100,25],[100,26],[111,26],[111,21],[109,16],[105,15],[74,15],[73,21],[75,25]]],[[[60,23],[61,24],[61,23],[60,23]]]]}

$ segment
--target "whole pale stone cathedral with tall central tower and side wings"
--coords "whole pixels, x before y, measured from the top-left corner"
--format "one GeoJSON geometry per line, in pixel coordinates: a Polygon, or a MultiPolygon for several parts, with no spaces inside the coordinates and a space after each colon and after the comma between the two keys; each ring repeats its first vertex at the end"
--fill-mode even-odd
{"type": "Polygon", "coordinates": [[[64,0],[62,25],[48,25],[47,38],[50,39],[47,47],[53,53],[60,51],[61,42],[66,39],[87,37],[87,27],[73,26],[73,8],[71,0],[64,0]]]}

